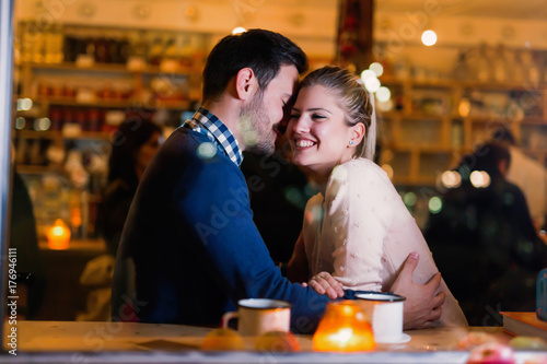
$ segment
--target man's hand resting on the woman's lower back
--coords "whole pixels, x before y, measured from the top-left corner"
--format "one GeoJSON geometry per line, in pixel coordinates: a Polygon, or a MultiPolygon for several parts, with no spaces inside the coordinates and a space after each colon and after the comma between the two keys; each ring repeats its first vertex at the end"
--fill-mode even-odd
{"type": "Polygon", "coordinates": [[[392,292],[405,296],[405,330],[431,327],[441,318],[445,294],[435,292],[441,286],[441,273],[434,274],[426,284],[412,281],[412,274],[420,259],[417,253],[408,255],[403,270],[392,285],[392,292]]]}

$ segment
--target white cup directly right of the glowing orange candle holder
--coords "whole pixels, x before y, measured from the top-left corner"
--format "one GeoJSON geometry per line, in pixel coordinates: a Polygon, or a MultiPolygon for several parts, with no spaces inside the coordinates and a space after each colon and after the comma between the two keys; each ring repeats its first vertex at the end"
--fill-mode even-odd
{"type": "Polygon", "coordinates": [[[377,343],[409,341],[410,337],[403,333],[405,297],[382,292],[357,293],[356,297],[372,321],[372,331],[377,343]]]}

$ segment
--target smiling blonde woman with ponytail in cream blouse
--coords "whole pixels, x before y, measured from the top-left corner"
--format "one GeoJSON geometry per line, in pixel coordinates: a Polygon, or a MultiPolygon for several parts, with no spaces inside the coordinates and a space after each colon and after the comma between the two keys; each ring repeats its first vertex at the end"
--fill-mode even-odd
{"type": "MultiPolygon", "coordinates": [[[[347,70],[318,69],[300,86],[287,132],[294,164],[311,173],[319,193],[307,202],[289,263],[294,281],[326,271],[344,289],[388,291],[411,251],[421,257],[415,281],[423,284],[438,272],[415,220],[372,162],[376,126],[371,115],[366,91],[347,70]]],[[[466,326],[444,282],[442,289],[440,322],[466,326]]]]}

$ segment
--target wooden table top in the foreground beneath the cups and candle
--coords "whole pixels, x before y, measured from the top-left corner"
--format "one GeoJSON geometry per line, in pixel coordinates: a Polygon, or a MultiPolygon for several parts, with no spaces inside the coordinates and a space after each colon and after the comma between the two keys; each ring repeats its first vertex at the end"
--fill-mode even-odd
{"type": "MultiPolygon", "coordinates": [[[[5,336],[10,327],[4,327],[5,336]]],[[[456,351],[468,331],[432,328],[406,331],[404,344],[380,344],[377,351],[357,354],[312,351],[312,337],[298,336],[298,353],[259,353],[245,338],[245,352],[201,352],[203,337],[212,329],[129,322],[18,321],[18,355],[0,355],[0,363],[465,363],[468,352],[456,351]]],[[[509,341],[500,328],[472,328],[509,341]]],[[[8,348],[9,349],[9,348],[8,348]]],[[[524,363],[531,352],[517,352],[524,363]]],[[[537,355],[537,353],[535,353],[537,355]]]]}

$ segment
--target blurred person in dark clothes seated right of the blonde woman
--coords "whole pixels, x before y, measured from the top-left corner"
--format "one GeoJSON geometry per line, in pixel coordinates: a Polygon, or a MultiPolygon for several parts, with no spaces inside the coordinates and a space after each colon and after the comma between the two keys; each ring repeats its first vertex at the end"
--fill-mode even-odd
{"type": "Polygon", "coordinates": [[[465,155],[442,209],[431,212],[424,236],[472,326],[499,326],[500,310],[535,310],[537,273],[547,248],[526,200],[507,181],[509,151],[496,143],[465,155]]]}

